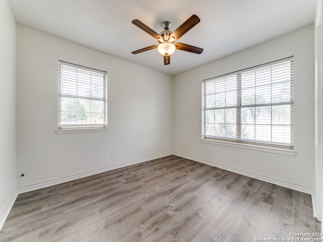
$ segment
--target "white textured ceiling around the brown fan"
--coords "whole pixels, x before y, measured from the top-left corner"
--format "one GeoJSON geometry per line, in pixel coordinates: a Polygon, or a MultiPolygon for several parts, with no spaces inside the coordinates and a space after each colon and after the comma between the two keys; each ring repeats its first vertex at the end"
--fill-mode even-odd
{"type": "Polygon", "coordinates": [[[70,40],[126,61],[177,75],[218,58],[314,23],[316,0],[8,0],[18,24],[70,40]],[[131,51],[157,40],[131,23],[157,33],[170,21],[174,31],[192,14],[200,23],[179,42],[201,47],[176,50],[164,66],[156,49],[131,51]]]}

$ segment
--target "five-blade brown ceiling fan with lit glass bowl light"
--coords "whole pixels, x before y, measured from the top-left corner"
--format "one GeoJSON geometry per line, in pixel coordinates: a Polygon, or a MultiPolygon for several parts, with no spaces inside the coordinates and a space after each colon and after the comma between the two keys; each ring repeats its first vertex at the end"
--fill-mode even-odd
{"type": "Polygon", "coordinates": [[[178,27],[176,30],[174,30],[174,32],[172,32],[169,30],[171,28],[171,22],[165,21],[162,25],[164,31],[158,34],[152,29],[150,29],[147,25],[135,19],[132,21],[132,23],[140,29],[142,29],[143,31],[145,31],[146,33],[150,34],[155,39],[157,39],[159,44],[150,45],[148,47],[132,51],[131,53],[138,54],[150,49],[157,48],[158,53],[164,55],[165,65],[169,65],[171,63],[171,55],[175,52],[175,49],[200,54],[203,52],[202,48],[176,42],[180,37],[182,37],[187,31],[189,31],[199,22],[200,19],[196,15],[192,15],[180,27],[178,27]]]}

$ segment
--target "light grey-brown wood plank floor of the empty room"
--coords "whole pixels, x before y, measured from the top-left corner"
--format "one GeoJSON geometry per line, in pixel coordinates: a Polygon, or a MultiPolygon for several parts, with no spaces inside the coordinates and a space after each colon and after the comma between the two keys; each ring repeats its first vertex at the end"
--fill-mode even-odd
{"type": "Polygon", "coordinates": [[[0,241],[255,241],[320,226],[310,195],[172,155],[20,194],[0,241]]]}

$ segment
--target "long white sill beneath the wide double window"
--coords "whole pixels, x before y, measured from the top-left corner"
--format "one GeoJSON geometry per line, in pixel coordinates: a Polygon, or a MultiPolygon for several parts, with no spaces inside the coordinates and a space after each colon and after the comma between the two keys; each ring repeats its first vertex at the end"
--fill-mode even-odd
{"type": "Polygon", "coordinates": [[[297,153],[294,150],[280,149],[275,147],[264,147],[264,146],[250,145],[250,144],[241,144],[241,143],[236,144],[228,141],[207,140],[207,139],[201,139],[201,141],[202,143],[208,143],[213,145],[224,145],[224,146],[230,146],[230,147],[235,147],[239,149],[256,150],[256,151],[276,153],[281,155],[296,156],[296,153],[297,153]]]}

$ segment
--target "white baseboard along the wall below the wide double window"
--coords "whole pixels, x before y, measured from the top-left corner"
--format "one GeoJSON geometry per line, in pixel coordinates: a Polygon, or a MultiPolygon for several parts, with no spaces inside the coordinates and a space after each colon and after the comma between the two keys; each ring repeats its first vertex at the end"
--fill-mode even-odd
{"type": "Polygon", "coordinates": [[[229,166],[229,165],[220,164],[220,163],[217,163],[217,162],[214,162],[214,161],[194,157],[194,156],[191,156],[191,155],[185,155],[185,154],[178,153],[178,152],[173,152],[173,154],[177,155],[177,156],[180,156],[180,157],[183,157],[183,158],[194,160],[194,161],[197,161],[197,162],[200,162],[200,163],[204,163],[204,164],[211,165],[211,166],[214,166],[214,167],[229,170],[229,171],[232,171],[232,172],[235,172],[235,173],[238,173],[238,174],[246,175],[246,176],[256,178],[256,179],[259,179],[259,180],[263,180],[263,181],[266,181],[267,183],[272,183],[272,184],[279,185],[279,186],[282,186],[282,187],[285,187],[285,188],[290,188],[290,189],[293,189],[293,190],[296,190],[296,191],[299,191],[299,192],[307,193],[307,194],[310,194],[310,195],[312,195],[313,192],[314,192],[313,189],[311,189],[311,188],[303,187],[303,186],[298,185],[298,184],[293,184],[293,183],[290,183],[289,181],[280,180],[280,179],[276,179],[276,178],[265,176],[265,175],[260,175],[260,174],[253,173],[253,172],[250,172],[250,171],[247,171],[247,170],[238,169],[238,168],[235,168],[235,167],[232,167],[232,166],[229,166]]]}

